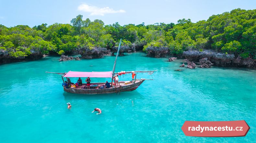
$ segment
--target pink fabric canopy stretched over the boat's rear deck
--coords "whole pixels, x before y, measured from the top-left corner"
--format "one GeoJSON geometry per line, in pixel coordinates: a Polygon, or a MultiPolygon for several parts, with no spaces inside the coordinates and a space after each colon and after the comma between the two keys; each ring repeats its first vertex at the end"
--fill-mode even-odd
{"type": "Polygon", "coordinates": [[[64,77],[102,77],[111,78],[112,72],[72,72],[69,71],[64,77]]]}

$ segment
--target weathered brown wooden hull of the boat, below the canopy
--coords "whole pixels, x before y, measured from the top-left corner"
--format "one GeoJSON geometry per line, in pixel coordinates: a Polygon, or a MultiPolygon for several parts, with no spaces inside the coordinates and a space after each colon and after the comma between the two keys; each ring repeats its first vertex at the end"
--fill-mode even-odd
{"type": "MultiPolygon", "coordinates": [[[[139,80],[135,83],[120,85],[117,88],[104,88],[104,89],[80,89],[80,88],[65,88],[64,91],[77,93],[77,94],[106,94],[106,93],[119,93],[124,91],[134,91],[136,90],[142,82],[145,80],[139,80]]],[[[93,84],[93,83],[92,83],[93,84]]]]}

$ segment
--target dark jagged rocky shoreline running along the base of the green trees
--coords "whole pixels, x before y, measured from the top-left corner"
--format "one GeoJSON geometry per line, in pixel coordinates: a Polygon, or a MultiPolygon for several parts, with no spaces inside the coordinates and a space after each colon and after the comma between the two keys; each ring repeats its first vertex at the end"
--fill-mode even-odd
{"type": "MultiPolygon", "coordinates": [[[[117,52],[118,47],[113,47],[111,50],[106,48],[95,47],[93,49],[81,48],[77,53],[81,54],[84,59],[102,58],[104,55],[114,55],[117,52]]],[[[146,49],[147,56],[160,58],[166,57],[169,53],[169,48],[167,47],[148,47],[146,49]]],[[[121,46],[119,51],[119,56],[123,56],[124,52],[130,53],[135,52],[134,46],[121,46]]],[[[64,56],[64,55],[63,55],[64,56]]],[[[24,58],[13,58],[9,56],[8,52],[0,50],[0,64],[10,63],[10,62],[20,62],[27,60],[38,60],[44,57],[41,53],[32,52],[27,57],[24,58]]],[[[240,56],[235,57],[234,54],[225,54],[215,52],[213,50],[200,51],[186,51],[182,55],[187,61],[191,63],[191,68],[194,67],[194,62],[200,62],[201,68],[210,68],[213,64],[216,66],[223,67],[246,67],[246,68],[256,68],[256,60],[251,58],[241,58],[240,56]]],[[[62,57],[60,61],[70,60],[70,57],[62,57]]],[[[72,57],[73,58],[73,57],[72,57]]],[[[169,58],[169,62],[175,60],[175,57],[169,58]]],[[[72,59],[71,59],[72,60],[72,59]]],[[[78,58],[77,58],[78,60],[78,58]]]]}

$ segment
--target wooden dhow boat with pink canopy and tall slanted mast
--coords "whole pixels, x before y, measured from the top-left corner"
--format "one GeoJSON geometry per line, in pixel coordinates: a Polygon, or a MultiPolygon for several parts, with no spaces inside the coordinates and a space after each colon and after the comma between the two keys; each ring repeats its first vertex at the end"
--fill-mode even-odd
{"type": "Polygon", "coordinates": [[[110,84],[111,87],[110,88],[103,88],[103,86],[105,85],[104,82],[96,82],[96,83],[90,83],[90,89],[87,89],[87,84],[83,83],[76,87],[63,86],[64,91],[66,91],[66,92],[78,93],[78,94],[105,94],[105,93],[120,93],[123,91],[134,91],[145,80],[153,80],[153,79],[142,79],[142,78],[136,79],[138,72],[147,72],[149,74],[152,74],[155,71],[115,72],[115,66],[116,66],[116,62],[117,62],[117,57],[119,55],[119,49],[120,49],[121,42],[122,42],[122,39],[120,39],[120,43],[119,43],[119,47],[117,50],[113,70],[110,72],[72,72],[72,71],[69,71],[69,72],[65,72],[65,73],[57,73],[57,72],[47,72],[47,73],[57,73],[57,74],[62,75],[61,77],[62,77],[63,83],[65,83],[64,78],[67,79],[69,77],[111,78],[111,84],[110,84]],[[128,74],[128,73],[131,73],[134,75],[134,79],[132,81],[119,81],[118,85],[114,85],[114,83],[113,83],[114,76],[128,74]]]}

